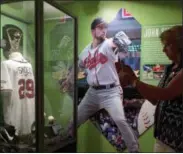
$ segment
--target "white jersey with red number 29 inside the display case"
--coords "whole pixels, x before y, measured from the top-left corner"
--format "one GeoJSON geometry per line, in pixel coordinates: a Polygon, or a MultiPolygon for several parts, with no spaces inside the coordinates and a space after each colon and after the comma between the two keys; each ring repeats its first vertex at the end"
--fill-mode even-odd
{"type": "Polygon", "coordinates": [[[1,90],[11,90],[11,101],[3,102],[4,120],[18,135],[31,133],[35,120],[35,83],[32,66],[14,52],[1,62],[1,90]]]}

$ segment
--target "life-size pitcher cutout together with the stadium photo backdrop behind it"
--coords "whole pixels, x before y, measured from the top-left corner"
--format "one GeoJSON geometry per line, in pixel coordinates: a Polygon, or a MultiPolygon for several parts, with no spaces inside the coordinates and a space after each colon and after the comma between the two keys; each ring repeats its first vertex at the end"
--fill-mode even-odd
{"type": "MultiPolygon", "coordinates": [[[[91,23],[91,34],[96,42],[78,56],[78,126],[90,118],[117,151],[127,148],[138,152],[137,138],[153,124],[154,106],[143,98],[123,97],[117,73],[125,64],[140,76],[141,25],[122,8],[109,23],[96,17],[91,23]]],[[[71,74],[72,71],[62,84],[63,89],[70,87],[71,74]]]]}

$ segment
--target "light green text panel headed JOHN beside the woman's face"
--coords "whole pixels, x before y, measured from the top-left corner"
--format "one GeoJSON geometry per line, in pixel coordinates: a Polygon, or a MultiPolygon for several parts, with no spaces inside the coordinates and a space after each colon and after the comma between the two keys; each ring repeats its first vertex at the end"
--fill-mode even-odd
{"type": "Polygon", "coordinates": [[[157,85],[163,75],[165,67],[171,63],[163,52],[163,44],[159,36],[163,31],[175,25],[179,24],[143,26],[140,71],[140,79],[142,81],[157,85]]]}

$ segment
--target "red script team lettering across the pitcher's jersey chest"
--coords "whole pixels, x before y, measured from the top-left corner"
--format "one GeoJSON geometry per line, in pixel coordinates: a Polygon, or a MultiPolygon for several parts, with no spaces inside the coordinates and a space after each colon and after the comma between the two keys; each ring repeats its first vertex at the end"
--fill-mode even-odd
{"type": "Polygon", "coordinates": [[[105,56],[103,53],[99,53],[97,49],[93,57],[89,52],[88,57],[85,58],[84,60],[84,66],[89,70],[91,70],[95,68],[98,64],[105,64],[107,61],[108,61],[107,56],[105,56]]]}

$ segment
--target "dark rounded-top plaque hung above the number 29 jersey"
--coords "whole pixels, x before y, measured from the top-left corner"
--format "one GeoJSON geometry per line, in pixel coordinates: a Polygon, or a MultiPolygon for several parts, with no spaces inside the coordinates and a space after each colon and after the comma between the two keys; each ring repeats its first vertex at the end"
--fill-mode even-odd
{"type": "Polygon", "coordinates": [[[8,59],[8,55],[11,52],[23,51],[23,31],[12,24],[3,26],[3,39],[6,42],[5,48],[3,48],[3,55],[8,59]]]}

